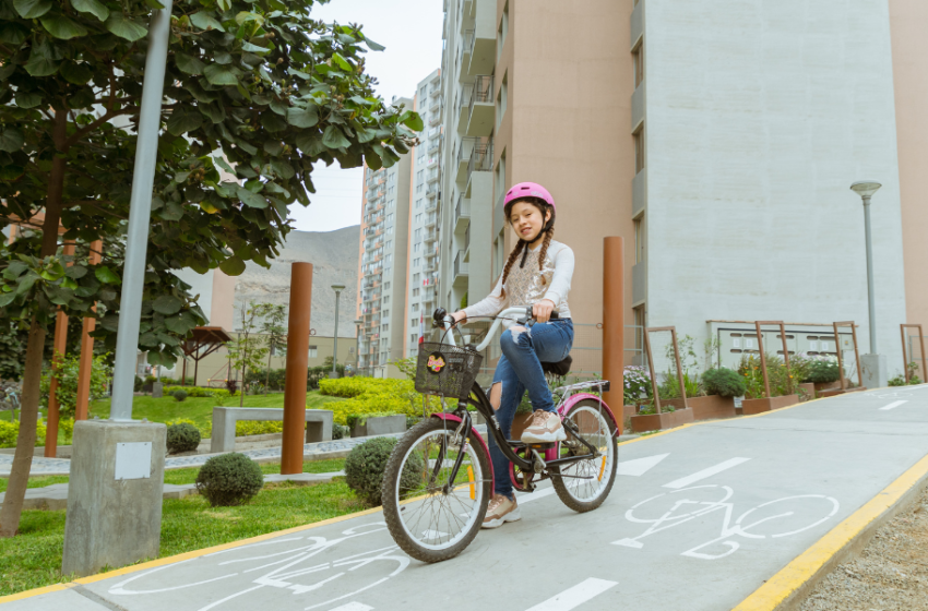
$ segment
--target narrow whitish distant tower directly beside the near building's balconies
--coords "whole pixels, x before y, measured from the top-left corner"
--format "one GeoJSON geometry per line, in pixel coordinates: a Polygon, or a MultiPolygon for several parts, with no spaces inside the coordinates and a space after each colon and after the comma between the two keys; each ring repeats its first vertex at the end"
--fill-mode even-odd
{"type": "Polygon", "coordinates": [[[418,83],[415,109],[423,118],[425,129],[419,134],[419,145],[413,149],[405,356],[417,354],[420,322],[425,324],[426,320],[430,320],[437,303],[442,167],[441,72],[439,70],[418,83]]]}

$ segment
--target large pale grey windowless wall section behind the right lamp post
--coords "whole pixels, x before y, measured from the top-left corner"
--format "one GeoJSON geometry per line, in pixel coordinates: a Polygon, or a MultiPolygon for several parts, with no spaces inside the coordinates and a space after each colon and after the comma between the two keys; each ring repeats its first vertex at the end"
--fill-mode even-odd
{"type": "MultiPolygon", "coordinates": [[[[905,320],[890,21],[883,0],[642,0],[647,315],[854,320],[873,178],[879,351],[905,320]]],[[[861,352],[868,351],[866,339],[861,352]]]]}

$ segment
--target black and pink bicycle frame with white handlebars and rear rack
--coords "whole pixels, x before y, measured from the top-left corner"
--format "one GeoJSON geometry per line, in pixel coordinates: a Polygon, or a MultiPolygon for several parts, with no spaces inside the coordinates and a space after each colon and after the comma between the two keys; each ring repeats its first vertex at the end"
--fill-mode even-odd
{"type": "MultiPolygon", "coordinates": [[[[525,314],[526,314],[526,308],[509,308],[509,309],[500,312],[500,314],[497,315],[496,320],[493,321],[493,324],[490,326],[489,331],[487,332],[487,336],[479,344],[479,346],[476,347],[476,350],[481,351],[481,350],[486,349],[486,347],[489,345],[489,343],[496,336],[497,331],[499,331],[499,327],[502,324],[503,320],[505,320],[507,318],[510,318],[512,315],[525,315],[525,314]]],[[[454,334],[452,332],[452,325],[451,325],[451,323],[448,322],[448,320],[444,321],[444,327],[445,327],[447,336],[451,338],[451,342],[450,342],[451,345],[455,346],[456,344],[454,343],[454,334]]],[[[602,415],[605,416],[606,418],[610,419],[612,421],[612,423],[616,424],[616,431],[618,431],[618,426],[617,426],[615,416],[612,415],[609,407],[605,404],[605,402],[603,402],[599,397],[596,397],[595,395],[588,395],[588,394],[576,395],[576,394],[573,394],[575,391],[584,390],[584,388],[599,387],[602,390],[608,390],[608,384],[609,384],[608,381],[599,380],[599,381],[595,381],[595,382],[583,382],[583,383],[580,383],[580,384],[572,384],[572,385],[569,385],[569,386],[563,386],[563,387],[559,388],[559,391],[561,391],[563,394],[561,395],[560,402],[558,403],[556,410],[560,412],[561,410],[564,409],[564,406],[569,409],[581,398],[587,398],[587,397],[594,398],[600,405],[602,415]]],[[[484,392],[484,390],[476,382],[474,383],[474,385],[471,388],[471,396],[469,396],[467,403],[474,405],[474,407],[477,408],[477,411],[487,421],[487,432],[488,432],[488,434],[493,436],[493,440],[496,441],[497,446],[500,448],[500,451],[503,453],[503,455],[514,466],[519,467],[519,469],[521,469],[523,472],[543,474],[547,469],[557,470],[560,467],[566,466],[566,465],[578,463],[580,460],[588,460],[588,459],[593,459],[593,458],[598,458],[598,457],[602,456],[599,451],[596,447],[594,447],[593,445],[591,445],[581,435],[580,431],[576,430],[573,427],[573,423],[570,422],[569,420],[562,421],[564,428],[568,431],[571,432],[571,434],[573,435],[573,438],[578,442],[580,442],[583,446],[586,447],[586,450],[588,451],[586,454],[580,454],[580,455],[576,455],[576,456],[567,456],[567,457],[563,457],[563,458],[557,458],[556,456],[558,456],[558,447],[559,447],[558,443],[526,444],[526,443],[523,443],[521,441],[511,441],[511,440],[505,439],[505,435],[503,435],[502,429],[500,428],[499,422],[497,421],[496,410],[493,409],[492,405],[490,404],[490,400],[487,397],[487,394],[484,392]],[[520,456],[516,453],[516,451],[523,450],[523,448],[527,451],[525,453],[525,457],[520,456]],[[545,451],[545,455],[548,457],[547,460],[542,457],[542,454],[538,452],[539,450],[545,451]],[[554,450],[554,453],[550,452],[551,450],[554,450]],[[555,456],[555,457],[551,458],[551,456],[555,456]]],[[[466,439],[469,435],[476,435],[476,438],[479,440],[479,442],[485,447],[487,446],[483,436],[480,436],[480,433],[477,432],[474,429],[472,420],[471,420],[469,411],[466,409],[466,407],[462,406],[460,402],[459,402],[457,409],[455,409],[454,411],[452,411],[450,414],[449,412],[433,414],[432,417],[441,418],[441,419],[448,420],[448,421],[460,422],[457,424],[457,429],[455,431],[454,439],[463,440],[463,439],[466,439]]],[[[443,456],[443,454],[444,454],[444,452],[443,452],[443,448],[442,448],[441,455],[443,456]]],[[[455,465],[453,467],[453,470],[451,472],[449,481],[455,480],[455,478],[457,476],[457,469],[461,467],[461,462],[463,459],[463,456],[464,456],[463,453],[460,453],[457,455],[457,460],[455,462],[455,465]]],[[[438,464],[440,464],[440,462],[438,464]]],[[[490,466],[490,471],[492,472],[492,465],[490,466]]],[[[554,472],[549,472],[548,475],[552,476],[552,477],[560,477],[559,474],[556,475],[554,472]]]]}

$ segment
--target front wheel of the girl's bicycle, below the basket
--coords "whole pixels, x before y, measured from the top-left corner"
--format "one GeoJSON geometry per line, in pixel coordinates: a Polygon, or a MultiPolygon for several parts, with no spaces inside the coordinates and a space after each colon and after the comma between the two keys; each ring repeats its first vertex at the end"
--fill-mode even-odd
{"type": "Polygon", "coordinates": [[[456,422],[438,418],[419,422],[396,444],[383,474],[390,534],[404,552],[423,562],[461,553],[477,536],[492,493],[484,445],[469,443],[476,439],[460,443],[456,428],[456,422]],[[461,466],[452,481],[459,456],[461,466]]]}

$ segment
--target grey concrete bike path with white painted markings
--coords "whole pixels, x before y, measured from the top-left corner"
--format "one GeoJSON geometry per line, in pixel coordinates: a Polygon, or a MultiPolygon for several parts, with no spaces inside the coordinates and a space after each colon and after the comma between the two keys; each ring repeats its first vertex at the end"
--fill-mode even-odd
{"type": "Polygon", "coordinates": [[[88,578],[0,611],[731,609],[928,455],[928,385],[855,393],[620,446],[576,514],[550,488],[436,565],[379,511],[88,578]]]}

